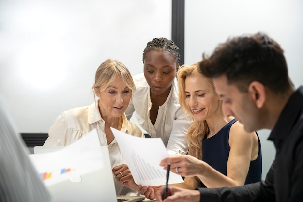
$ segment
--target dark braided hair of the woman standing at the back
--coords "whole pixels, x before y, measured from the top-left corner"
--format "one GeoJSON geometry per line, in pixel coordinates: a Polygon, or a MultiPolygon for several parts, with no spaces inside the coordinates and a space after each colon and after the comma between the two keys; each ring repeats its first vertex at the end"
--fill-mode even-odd
{"type": "Polygon", "coordinates": [[[143,62],[146,54],[149,51],[167,51],[175,59],[176,64],[179,65],[180,53],[179,47],[172,41],[167,38],[154,38],[152,41],[148,42],[144,51],[143,51],[143,62]]]}

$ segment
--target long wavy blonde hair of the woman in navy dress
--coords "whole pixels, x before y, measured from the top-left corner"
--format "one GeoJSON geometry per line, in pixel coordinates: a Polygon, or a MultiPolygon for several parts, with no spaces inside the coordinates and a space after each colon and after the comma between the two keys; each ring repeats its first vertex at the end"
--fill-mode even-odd
{"type": "MultiPolygon", "coordinates": [[[[189,76],[198,75],[202,78],[206,78],[204,75],[200,74],[198,71],[199,62],[186,65],[183,64],[178,71],[178,87],[179,87],[179,103],[185,115],[188,117],[190,115],[193,119],[193,123],[188,129],[186,135],[186,141],[188,143],[189,151],[188,154],[195,156],[198,159],[202,159],[202,140],[209,133],[209,127],[206,121],[195,121],[194,114],[190,108],[187,107],[185,103],[185,79],[189,76]]],[[[214,84],[211,78],[206,78],[207,84],[210,85],[214,90],[214,84]]]]}

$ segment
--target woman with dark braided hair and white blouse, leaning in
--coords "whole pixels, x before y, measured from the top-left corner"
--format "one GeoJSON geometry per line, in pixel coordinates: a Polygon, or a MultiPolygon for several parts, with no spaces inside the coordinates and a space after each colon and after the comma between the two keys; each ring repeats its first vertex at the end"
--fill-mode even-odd
{"type": "Polygon", "coordinates": [[[125,111],[133,113],[152,137],[161,138],[171,156],[187,154],[188,121],[178,101],[179,48],[167,38],[154,38],[143,51],[143,73],[133,77],[136,91],[125,111]]]}

